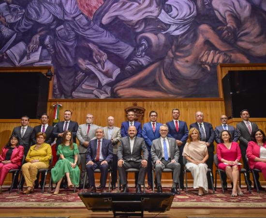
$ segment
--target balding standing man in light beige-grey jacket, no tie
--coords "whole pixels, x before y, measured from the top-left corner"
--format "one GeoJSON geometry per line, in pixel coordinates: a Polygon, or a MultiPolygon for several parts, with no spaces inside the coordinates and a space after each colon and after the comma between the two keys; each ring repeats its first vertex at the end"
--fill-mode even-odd
{"type": "Polygon", "coordinates": [[[118,181],[118,146],[121,139],[120,128],[115,126],[115,118],[110,116],[107,118],[108,126],[103,128],[103,138],[111,140],[113,145],[113,161],[112,161],[112,190],[116,188],[118,181]]]}

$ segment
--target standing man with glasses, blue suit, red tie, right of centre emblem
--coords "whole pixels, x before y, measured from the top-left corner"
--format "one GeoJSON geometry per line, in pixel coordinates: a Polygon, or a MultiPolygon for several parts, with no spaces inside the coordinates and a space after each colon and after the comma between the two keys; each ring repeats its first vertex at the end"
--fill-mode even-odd
{"type": "Polygon", "coordinates": [[[160,126],[162,124],[157,122],[157,112],[152,110],[149,112],[149,122],[143,125],[142,129],[142,138],[145,140],[146,147],[148,149],[148,187],[147,189],[152,188],[152,163],[151,163],[151,155],[150,149],[152,145],[152,141],[159,139],[160,135],[160,126]]]}

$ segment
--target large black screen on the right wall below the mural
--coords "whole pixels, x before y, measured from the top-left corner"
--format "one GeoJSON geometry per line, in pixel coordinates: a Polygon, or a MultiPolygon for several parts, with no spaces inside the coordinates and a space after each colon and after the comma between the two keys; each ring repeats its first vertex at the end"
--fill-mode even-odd
{"type": "Polygon", "coordinates": [[[222,78],[225,113],[229,118],[239,118],[242,109],[251,117],[266,117],[266,70],[228,71],[222,78]]]}

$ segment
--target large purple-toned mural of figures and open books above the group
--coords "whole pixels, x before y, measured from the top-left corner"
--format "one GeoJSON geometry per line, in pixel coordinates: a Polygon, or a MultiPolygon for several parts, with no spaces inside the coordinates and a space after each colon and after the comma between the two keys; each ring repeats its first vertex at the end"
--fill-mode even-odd
{"type": "Polygon", "coordinates": [[[0,66],[54,65],[54,98],[219,97],[266,62],[266,0],[0,0],[0,66]]]}

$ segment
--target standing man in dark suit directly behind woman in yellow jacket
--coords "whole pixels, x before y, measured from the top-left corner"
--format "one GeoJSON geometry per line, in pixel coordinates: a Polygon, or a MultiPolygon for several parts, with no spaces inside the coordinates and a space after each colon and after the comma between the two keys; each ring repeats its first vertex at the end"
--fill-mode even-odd
{"type": "MultiPolygon", "coordinates": [[[[46,134],[45,143],[51,145],[51,143],[54,141],[54,136],[53,136],[54,126],[48,125],[49,116],[46,113],[42,114],[40,120],[41,120],[41,125],[36,125],[33,127],[33,131],[31,133],[32,144],[37,143],[36,142],[36,134],[39,132],[44,132],[46,134]]],[[[37,179],[35,180],[34,188],[39,187],[39,175],[40,175],[40,173],[37,174],[37,179]]],[[[42,173],[41,187],[42,187],[43,183],[44,183],[44,173],[42,173]]]]}

